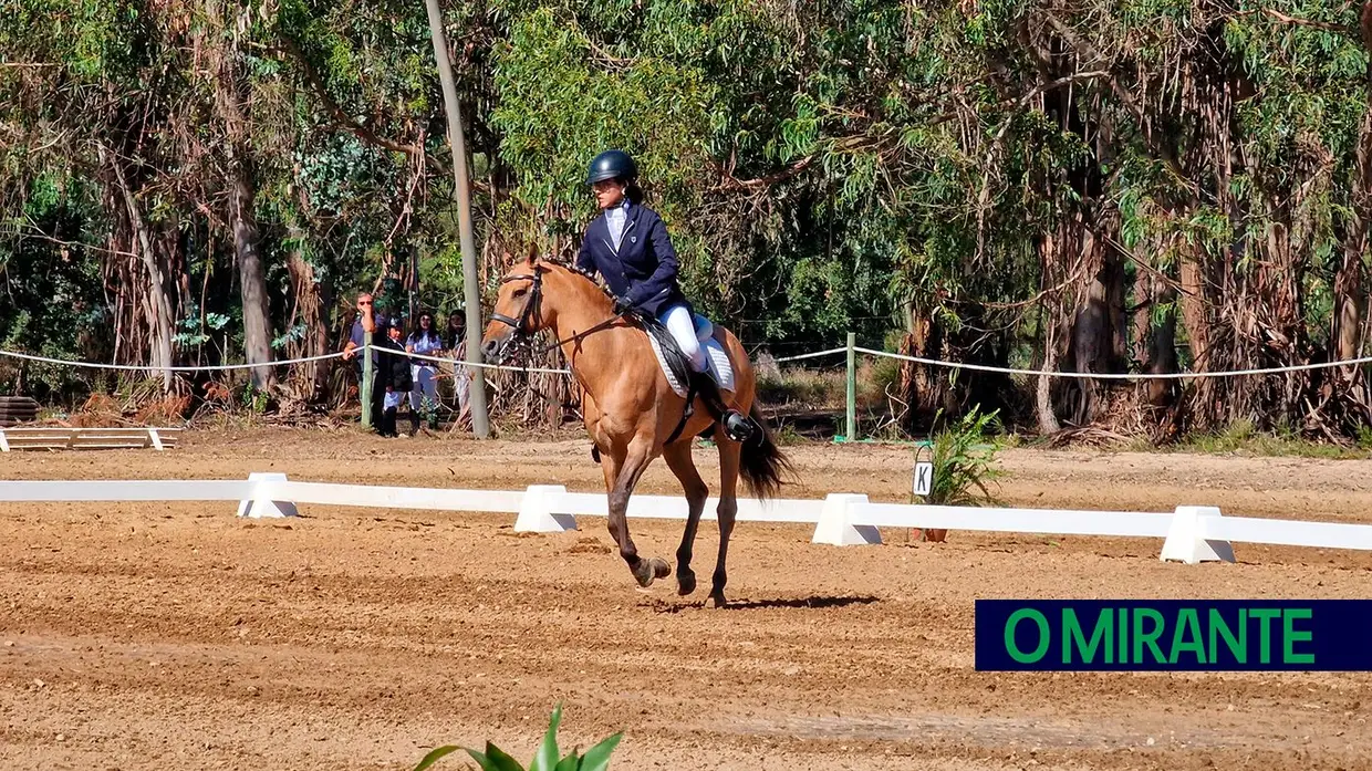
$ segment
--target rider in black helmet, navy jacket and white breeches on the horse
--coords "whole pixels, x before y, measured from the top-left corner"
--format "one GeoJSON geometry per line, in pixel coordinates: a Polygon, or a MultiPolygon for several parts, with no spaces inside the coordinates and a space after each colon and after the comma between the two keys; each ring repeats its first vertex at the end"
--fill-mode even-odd
{"type": "Polygon", "coordinates": [[[656,211],[642,206],[638,167],[628,154],[609,150],[590,165],[586,184],[595,192],[602,214],[586,229],[576,266],[598,272],[615,294],[615,313],[637,311],[656,318],[671,332],[690,361],[694,391],[701,395],[734,442],[753,436],[753,424],[729,409],[719,386],[707,372],[708,359],[696,336],[694,310],[682,294],[676,251],[656,211]]]}

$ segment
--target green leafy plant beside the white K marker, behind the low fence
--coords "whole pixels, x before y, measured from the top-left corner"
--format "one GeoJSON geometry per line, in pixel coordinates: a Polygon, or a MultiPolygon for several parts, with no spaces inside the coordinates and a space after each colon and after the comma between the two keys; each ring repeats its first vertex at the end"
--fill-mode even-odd
{"type": "MultiPolygon", "coordinates": [[[[988,443],[986,428],[996,424],[999,410],[981,413],[973,407],[951,425],[944,425],[930,436],[930,455],[934,465],[929,503],[945,506],[997,505],[986,483],[1002,476],[995,468],[997,447],[988,443]]],[[[943,417],[943,410],[938,412],[943,417]]],[[[936,418],[937,420],[937,418],[936,418]]],[[[915,450],[919,460],[922,450],[915,450]]]]}

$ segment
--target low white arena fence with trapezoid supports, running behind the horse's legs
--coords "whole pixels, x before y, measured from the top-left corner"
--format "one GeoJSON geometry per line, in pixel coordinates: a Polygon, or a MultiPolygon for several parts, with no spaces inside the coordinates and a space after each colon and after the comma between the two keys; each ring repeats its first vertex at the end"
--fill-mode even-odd
{"type": "MultiPolygon", "coordinates": [[[[296,505],[373,509],[425,509],[516,514],[519,532],[563,532],[576,517],[609,514],[604,493],[569,493],[558,484],[525,490],[460,490],[291,482],[284,473],[251,473],[246,480],[44,480],[0,482],[0,502],[237,501],[240,517],[296,516],[296,505]]],[[[701,519],[716,519],[718,498],[701,519]]],[[[686,499],[634,495],[634,519],[685,520],[686,499]]],[[[834,546],[881,543],[878,528],[1161,538],[1159,558],[1187,564],[1232,562],[1232,542],[1372,550],[1372,524],[1227,517],[1214,506],[1177,506],[1174,512],[1092,512],[873,503],[867,495],[834,493],[823,499],[738,499],[738,521],[815,525],[811,542],[834,546]]]]}

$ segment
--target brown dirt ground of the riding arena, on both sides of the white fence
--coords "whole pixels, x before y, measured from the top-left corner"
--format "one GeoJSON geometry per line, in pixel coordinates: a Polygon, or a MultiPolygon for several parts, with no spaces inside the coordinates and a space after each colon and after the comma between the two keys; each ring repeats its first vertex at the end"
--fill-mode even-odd
{"type": "MultiPolygon", "coordinates": [[[[0,479],[243,479],[601,490],[583,439],[384,440],[346,429],[200,431],[166,453],[0,455],[0,479]]],[[[907,501],[912,455],[789,449],[785,497],[907,501]]],[[[697,450],[708,482],[718,466],[697,450]]],[[[1004,455],[1025,506],[1372,521],[1372,464],[1004,455]]],[[[676,493],[659,461],[639,487],[676,493]]],[[[993,674],[975,598],[1356,598],[1372,556],[1235,545],[1158,561],[1151,539],[738,527],[730,609],[639,591],[604,520],[516,535],[512,516],[232,503],[0,505],[0,768],[406,770],[439,744],[532,755],[623,730],[613,768],[1372,768],[1372,674],[993,674]]],[[[672,557],[679,524],[631,520],[672,557]]],[[[465,767],[458,756],[438,768],[465,767]]]]}

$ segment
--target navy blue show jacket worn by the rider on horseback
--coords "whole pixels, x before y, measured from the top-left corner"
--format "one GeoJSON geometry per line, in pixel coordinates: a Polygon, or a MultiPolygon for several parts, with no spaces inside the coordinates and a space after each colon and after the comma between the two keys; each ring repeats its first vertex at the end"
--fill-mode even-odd
{"type": "Polygon", "coordinates": [[[661,217],[637,203],[630,203],[624,214],[624,235],[619,251],[615,250],[609,225],[601,213],[586,228],[582,251],[576,255],[578,268],[595,270],[611,291],[654,318],[678,303],[690,311],[691,306],[676,277],[676,251],[661,217]]]}

